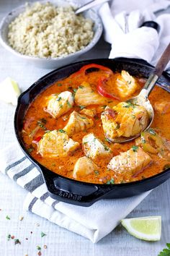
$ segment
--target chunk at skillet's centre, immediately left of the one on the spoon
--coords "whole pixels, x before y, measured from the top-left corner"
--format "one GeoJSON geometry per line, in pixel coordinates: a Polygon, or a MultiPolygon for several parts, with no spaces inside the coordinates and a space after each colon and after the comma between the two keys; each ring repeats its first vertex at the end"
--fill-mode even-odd
{"type": "Polygon", "coordinates": [[[70,115],[68,123],[63,130],[69,135],[73,135],[77,132],[84,131],[94,125],[94,121],[86,116],[83,116],[76,111],[73,111],[70,115]]]}

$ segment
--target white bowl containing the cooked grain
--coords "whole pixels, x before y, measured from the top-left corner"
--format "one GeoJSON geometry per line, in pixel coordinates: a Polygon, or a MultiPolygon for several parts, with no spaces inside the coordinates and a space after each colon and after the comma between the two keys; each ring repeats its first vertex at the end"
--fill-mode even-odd
{"type": "MultiPolygon", "coordinates": [[[[41,2],[47,2],[47,1],[41,1],[41,2]]],[[[75,1],[68,1],[68,0],[51,0],[51,3],[55,4],[56,6],[60,7],[67,7],[68,5],[71,5],[73,7],[79,7],[79,4],[75,1]]],[[[72,61],[77,59],[81,54],[86,53],[86,51],[89,51],[92,47],[95,46],[97,41],[99,40],[100,36],[102,35],[102,22],[96,12],[93,10],[88,10],[84,12],[84,17],[88,17],[91,20],[94,21],[94,37],[91,40],[91,42],[84,47],[84,49],[80,51],[76,51],[73,54],[68,54],[68,56],[64,57],[58,57],[58,58],[40,58],[40,57],[34,57],[34,56],[27,56],[20,54],[18,51],[15,51],[11,46],[9,46],[8,43],[8,27],[9,24],[14,20],[20,13],[24,12],[25,5],[19,6],[16,9],[13,9],[12,12],[9,12],[9,14],[4,17],[4,19],[1,21],[0,24],[0,43],[6,50],[10,51],[12,54],[15,54],[16,56],[30,62],[30,64],[35,64],[37,67],[42,68],[58,68],[61,66],[64,66],[66,64],[70,64],[72,61]]]]}

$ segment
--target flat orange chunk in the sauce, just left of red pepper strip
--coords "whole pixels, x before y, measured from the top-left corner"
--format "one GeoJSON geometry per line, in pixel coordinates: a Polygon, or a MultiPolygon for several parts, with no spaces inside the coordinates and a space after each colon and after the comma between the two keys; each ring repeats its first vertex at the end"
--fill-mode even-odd
{"type": "Polygon", "coordinates": [[[92,104],[106,105],[108,99],[94,92],[88,82],[82,82],[76,91],[75,102],[79,106],[89,106],[92,104]]]}

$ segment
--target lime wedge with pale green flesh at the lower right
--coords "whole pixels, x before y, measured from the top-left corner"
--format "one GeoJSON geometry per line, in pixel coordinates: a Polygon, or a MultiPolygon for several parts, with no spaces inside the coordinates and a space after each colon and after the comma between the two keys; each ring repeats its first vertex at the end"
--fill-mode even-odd
{"type": "Polygon", "coordinates": [[[161,239],[161,216],[124,218],[122,226],[138,239],[158,241],[161,239]]]}

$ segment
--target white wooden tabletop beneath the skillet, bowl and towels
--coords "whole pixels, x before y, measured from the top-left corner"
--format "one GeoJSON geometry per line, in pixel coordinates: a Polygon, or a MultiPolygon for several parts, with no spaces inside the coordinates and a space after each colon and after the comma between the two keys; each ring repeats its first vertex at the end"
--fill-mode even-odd
{"type": "MultiPolygon", "coordinates": [[[[6,12],[22,4],[22,2],[24,1],[0,0],[0,20],[6,12]]],[[[109,50],[109,44],[101,39],[97,46],[82,56],[81,59],[107,57],[109,50]]],[[[19,82],[20,88],[25,90],[35,80],[48,72],[50,69],[30,66],[0,46],[0,80],[4,80],[8,76],[12,77],[19,82]]],[[[15,140],[14,111],[14,106],[0,103],[0,148],[4,148],[15,140]]],[[[92,244],[82,236],[62,229],[32,213],[24,212],[22,205],[26,192],[8,177],[0,174],[0,255],[34,256],[38,252],[37,245],[40,245],[42,255],[46,256],[156,256],[161,249],[166,247],[166,242],[170,242],[169,187],[170,180],[154,189],[128,216],[161,216],[162,236],[160,242],[140,241],[130,236],[121,226],[118,226],[98,244],[92,244]],[[6,216],[9,216],[11,220],[6,220],[6,216]],[[19,216],[24,216],[24,219],[19,221],[19,216]],[[37,226],[37,223],[40,226],[37,226]],[[47,236],[41,238],[41,231],[47,236]],[[8,242],[7,234],[12,234],[16,239],[20,239],[22,244],[14,245],[14,241],[8,242]],[[47,245],[47,249],[43,248],[44,244],[47,245]]]]}

